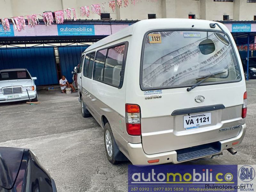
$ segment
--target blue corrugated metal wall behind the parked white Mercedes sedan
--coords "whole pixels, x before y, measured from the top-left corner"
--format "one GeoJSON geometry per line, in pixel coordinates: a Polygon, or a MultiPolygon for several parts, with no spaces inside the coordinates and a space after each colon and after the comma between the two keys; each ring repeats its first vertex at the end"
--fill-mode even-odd
{"type": "Polygon", "coordinates": [[[27,68],[36,85],[58,84],[53,47],[0,49],[0,69],[27,68]]]}

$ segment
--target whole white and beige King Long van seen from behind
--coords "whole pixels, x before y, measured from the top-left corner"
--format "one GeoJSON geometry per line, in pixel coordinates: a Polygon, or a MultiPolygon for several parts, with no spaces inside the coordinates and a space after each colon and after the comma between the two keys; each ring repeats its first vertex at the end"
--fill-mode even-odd
{"type": "Polygon", "coordinates": [[[142,20],[88,47],[75,69],[83,116],[104,129],[112,164],[236,154],[244,138],[243,67],[221,23],[142,20]]]}

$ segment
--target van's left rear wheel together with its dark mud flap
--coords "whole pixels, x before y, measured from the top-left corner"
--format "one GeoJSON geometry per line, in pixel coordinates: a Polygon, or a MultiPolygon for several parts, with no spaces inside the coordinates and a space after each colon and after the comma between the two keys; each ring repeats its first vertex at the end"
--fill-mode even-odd
{"type": "Polygon", "coordinates": [[[112,164],[118,164],[122,161],[128,161],[127,157],[119,150],[111,130],[110,124],[107,122],[104,127],[104,143],[108,161],[112,164]]]}

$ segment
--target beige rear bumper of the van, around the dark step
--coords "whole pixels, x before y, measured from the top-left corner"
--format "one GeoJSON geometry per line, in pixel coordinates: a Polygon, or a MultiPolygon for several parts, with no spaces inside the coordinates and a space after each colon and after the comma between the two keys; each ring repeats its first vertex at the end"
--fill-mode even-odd
{"type": "MultiPolygon", "coordinates": [[[[243,124],[241,126],[240,132],[236,137],[227,139],[227,140],[221,140],[219,141],[221,144],[220,152],[216,154],[220,154],[223,150],[234,147],[242,142],[244,139],[244,135],[246,132],[246,124],[243,124]],[[232,143],[239,141],[238,144],[232,145],[232,143]]],[[[150,165],[153,164],[164,164],[164,163],[173,163],[173,164],[178,164],[186,161],[191,161],[194,159],[199,159],[205,156],[201,156],[198,158],[194,159],[189,159],[186,161],[177,161],[177,152],[176,151],[169,151],[169,152],[164,152],[164,153],[157,153],[157,154],[152,154],[148,155],[143,151],[142,144],[141,143],[127,143],[127,157],[128,159],[132,162],[134,165],[147,165],[148,160],[155,160],[159,159],[158,163],[151,163],[150,165]]],[[[211,154],[211,155],[216,155],[216,154],[211,154]]],[[[209,155],[208,155],[209,156],[209,155]]]]}

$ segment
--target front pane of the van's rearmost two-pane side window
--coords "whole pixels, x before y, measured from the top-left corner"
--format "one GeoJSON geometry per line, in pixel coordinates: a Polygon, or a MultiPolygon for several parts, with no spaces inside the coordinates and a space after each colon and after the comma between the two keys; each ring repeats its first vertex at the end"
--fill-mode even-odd
{"type": "Polygon", "coordinates": [[[104,69],[106,55],[107,55],[107,49],[97,51],[96,53],[94,68],[93,68],[94,80],[97,80],[97,81],[103,80],[103,69],[104,69]]]}

